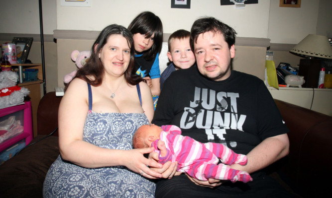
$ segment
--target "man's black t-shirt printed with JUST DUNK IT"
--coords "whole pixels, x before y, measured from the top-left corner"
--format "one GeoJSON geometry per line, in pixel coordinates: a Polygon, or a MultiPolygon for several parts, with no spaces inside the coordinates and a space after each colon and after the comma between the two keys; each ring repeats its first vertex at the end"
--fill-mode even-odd
{"type": "Polygon", "coordinates": [[[214,81],[197,66],[176,70],[166,79],[152,123],[176,125],[183,135],[223,143],[241,154],[289,131],[262,80],[232,70],[227,79],[214,81]]]}

